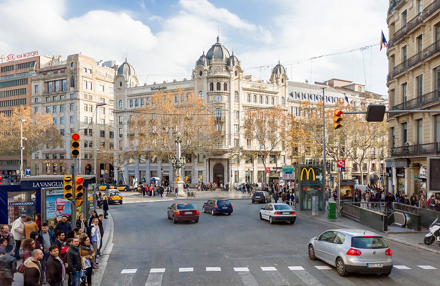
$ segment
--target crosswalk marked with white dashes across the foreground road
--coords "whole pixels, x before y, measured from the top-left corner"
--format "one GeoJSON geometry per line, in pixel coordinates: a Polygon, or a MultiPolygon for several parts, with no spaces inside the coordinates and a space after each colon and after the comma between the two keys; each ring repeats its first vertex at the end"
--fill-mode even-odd
{"type": "MultiPolygon", "coordinates": [[[[404,281],[405,273],[410,271],[419,270],[437,270],[438,267],[432,265],[394,265],[394,269],[391,273],[390,285],[398,285],[400,282],[404,281]]],[[[123,269],[121,274],[126,275],[136,275],[139,273],[140,269],[123,269]]],[[[332,283],[337,283],[341,285],[355,285],[356,281],[351,281],[350,279],[359,279],[355,275],[345,278],[339,277],[334,267],[328,265],[308,265],[308,266],[281,266],[275,264],[275,266],[260,266],[260,267],[218,267],[215,265],[207,267],[171,267],[171,268],[150,268],[142,270],[141,272],[147,273],[146,286],[160,286],[166,285],[168,282],[164,282],[165,277],[170,275],[197,275],[204,276],[206,273],[222,273],[221,275],[236,275],[237,279],[240,279],[243,285],[263,285],[267,281],[270,281],[271,285],[326,285],[328,280],[332,283]],[[185,274],[188,273],[188,274],[185,274]],[[205,274],[204,274],[205,273],[205,274]],[[319,274],[325,275],[325,280],[319,274]],[[263,282],[259,282],[263,279],[263,282]],[[326,281],[327,280],[327,281],[326,281]],[[353,283],[354,282],[354,283],[353,283]]],[[[427,272],[428,273],[428,272],[427,272]]],[[[379,277],[379,276],[378,276],[379,277]]],[[[361,277],[361,279],[364,279],[361,277]]],[[[372,283],[374,281],[371,281],[372,283]]]]}

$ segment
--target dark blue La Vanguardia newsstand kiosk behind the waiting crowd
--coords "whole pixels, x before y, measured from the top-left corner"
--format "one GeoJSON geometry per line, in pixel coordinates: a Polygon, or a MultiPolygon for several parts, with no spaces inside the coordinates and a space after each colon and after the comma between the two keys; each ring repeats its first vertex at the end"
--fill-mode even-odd
{"type": "MultiPolygon", "coordinates": [[[[83,178],[84,188],[88,188],[95,177],[84,175],[83,178]]],[[[0,224],[11,225],[22,214],[34,218],[36,213],[42,213],[42,189],[62,187],[62,175],[24,177],[20,185],[0,185],[0,224]]]]}

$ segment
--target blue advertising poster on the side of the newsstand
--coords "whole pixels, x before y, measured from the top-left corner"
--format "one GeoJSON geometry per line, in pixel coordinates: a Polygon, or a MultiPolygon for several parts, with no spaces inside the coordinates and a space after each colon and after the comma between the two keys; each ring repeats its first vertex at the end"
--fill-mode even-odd
{"type": "Polygon", "coordinates": [[[71,221],[70,204],[69,200],[64,199],[62,189],[46,191],[46,219],[58,223],[63,215],[67,215],[67,220],[71,221]]]}

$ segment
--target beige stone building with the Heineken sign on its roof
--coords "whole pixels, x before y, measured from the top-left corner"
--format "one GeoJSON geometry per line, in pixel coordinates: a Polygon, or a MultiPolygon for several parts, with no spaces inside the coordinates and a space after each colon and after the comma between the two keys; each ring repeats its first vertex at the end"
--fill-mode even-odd
{"type": "MultiPolygon", "coordinates": [[[[113,150],[114,75],[115,70],[102,61],[74,54],[52,60],[32,76],[32,111],[52,115],[65,142],[59,148],[32,154],[32,174],[69,173],[73,163],[70,140],[75,132],[82,142],[78,170],[85,175],[94,173],[96,148],[113,150]],[[105,105],[97,107],[99,103],[105,105]]],[[[104,174],[112,177],[112,165],[98,162],[97,174],[98,181],[104,174]]]]}

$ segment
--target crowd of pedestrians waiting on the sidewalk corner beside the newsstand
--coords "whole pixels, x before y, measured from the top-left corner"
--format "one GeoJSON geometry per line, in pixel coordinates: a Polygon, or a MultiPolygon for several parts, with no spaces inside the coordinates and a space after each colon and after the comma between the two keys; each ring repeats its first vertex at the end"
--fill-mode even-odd
{"type": "Polygon", "coordinates": [[[40,214],[34,220],[21,215],[10,232],[7,225],[1,225],[0,286],[11,286],[17,272],[23,274],[23,286],[91,286],[93,269],[99,268],[105,203],[104,215],[93,210],[87,221],[80,213],[74,229],[66,215],[56,226],[54,221],[42,223],[40,214]]]}

